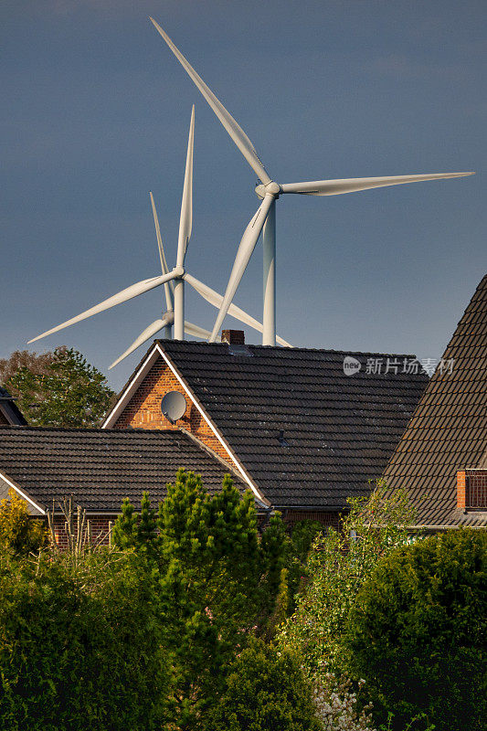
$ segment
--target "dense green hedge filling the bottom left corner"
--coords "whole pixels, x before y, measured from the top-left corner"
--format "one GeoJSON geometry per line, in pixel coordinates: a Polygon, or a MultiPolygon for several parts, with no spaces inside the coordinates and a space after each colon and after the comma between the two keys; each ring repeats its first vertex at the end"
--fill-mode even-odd
{"type": "Polygon", "coordinates": [[[169,671],[157,592],[130,552],[0,556],[0,727],[151,731],[169,671]]]}

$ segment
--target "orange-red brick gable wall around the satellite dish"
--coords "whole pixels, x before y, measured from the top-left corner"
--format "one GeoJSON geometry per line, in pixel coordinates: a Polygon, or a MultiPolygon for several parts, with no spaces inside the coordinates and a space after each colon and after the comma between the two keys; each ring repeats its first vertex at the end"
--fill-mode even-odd
{"type": "Polygon", "coordinates": [[[113,429],[127,429],[127,427],[134,429],[179,429],[179,427],[184,427],[206,447],[215,451],[222,460],[228,462],[232,467],[237,466],[228,450],[222,446],[208,427],[206,420],[187,396],[185,389],[163,358],[159,358],[154,363],[120,417],[113,424],[113,429]],[[161,401],[168,391],[178,391],[186,400],[185,414],[178,419],[176,424],[171,424],[161,412],[161,401]]]}

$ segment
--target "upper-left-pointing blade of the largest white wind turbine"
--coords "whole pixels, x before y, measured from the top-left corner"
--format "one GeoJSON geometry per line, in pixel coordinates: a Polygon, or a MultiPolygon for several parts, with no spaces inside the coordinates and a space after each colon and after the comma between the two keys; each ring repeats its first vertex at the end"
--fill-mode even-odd
{"type": "Polygon", "coordinates": [[[238,122],[234,120],[232,115],[225,109],[221,101],[217,99],[213,91],[206,86],[205,81],[196,73],[195,69],[193,69],[189,61],[186,60],[179,48],[175,47],[175,44],[167,35],[167,33],[163,30],[163,28],[155,22],[154,18],[151,17],[150,19],[154,23],[154,26],[158,33],[161,34],[161,36],[164,38],[164,41],[175,54],[175,58],[177,58],[181,66],[185,69],[188,76],[193,79],[196,87],[198,88],[198,90],[201,91],[211,109],[215,112],[217,118],[223,124],[233,142],[237,145],[238,150],[241,152],[241,154],[243,154],[254,173],[259,176],[259,179],[264,185],[270,183],[270,177],[266,173],[263,164],[260,162],[255,147],[250,142],[247,134],[238,125],[238,122]]]}

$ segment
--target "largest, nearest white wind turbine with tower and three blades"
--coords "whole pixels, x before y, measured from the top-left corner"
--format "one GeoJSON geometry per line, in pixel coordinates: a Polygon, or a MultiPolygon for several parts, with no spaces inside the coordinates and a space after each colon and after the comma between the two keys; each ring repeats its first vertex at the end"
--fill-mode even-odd
{"type": "Polygon", "coordinates": [[[260,231],[263,229],[263,254],[264,254],[264,307],[263,307],[263,334],[262,344],[276,344],[276,200],[282,194],[298,194],[304,196],[339,196],[344,193],[355,193],[359,190],[378,188],[386,185],[401,185],[404,183],[417,183],[425,180],[439,180],[442,178],[463,177],[474,175],[474,173],[433,173],[429,175],[389,175],[383,177],[362,177],[346,178],[338,180],[315,180],[308,183],[287,183],[280,185],[276,183],[267,173],[254,145],[250,142],[247,134],[234,120],[231,114],[225,109],[221,101],[201,77],[193,69],[189,61],[176,48],[171,38],[159,26],[154,18],[150,18],[156,30],[164,38],[166,44],[171,48],[175,57],[181,63],[186,73],[194,81],[197,89],[202,93],[211,109],[217,115],[218,120],[227,130],[238,150],[243,154],[252,170],[259,176],[260,184],[256,186],[255,192],[262,203],[257,213],[250,220],[249,226],[245,229],[238,247],[230,278],[228,280],[225,297],[217,314],[217,320],[209,338],[214,342],[217,338],[221,324],[228,313],[228,308],[233,300],[238,284],[247,268],[249,259],[257,244],[260,231]]]}

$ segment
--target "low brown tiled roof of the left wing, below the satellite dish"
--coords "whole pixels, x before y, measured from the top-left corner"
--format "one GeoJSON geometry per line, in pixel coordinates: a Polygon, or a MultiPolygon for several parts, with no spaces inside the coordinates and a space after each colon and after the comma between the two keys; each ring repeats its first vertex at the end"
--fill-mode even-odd
{"type": "MultiPolygon", "coordinates": [[[[119,513],[124,497],[140,503],[144,490],[158,503],[179,468],[201,474],[210,493],[221,489],[230,472],[193,437],[174,429],[0,427],[0,475],[42,511],[70,495],[92,513],[119,513]]],[[[248,485],[232,476],[244,493],[248,485]]],[[[0,498],[8,488],[0,479],[0,498]]]]}

